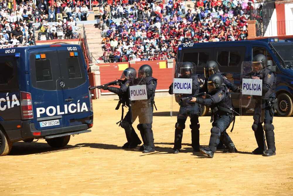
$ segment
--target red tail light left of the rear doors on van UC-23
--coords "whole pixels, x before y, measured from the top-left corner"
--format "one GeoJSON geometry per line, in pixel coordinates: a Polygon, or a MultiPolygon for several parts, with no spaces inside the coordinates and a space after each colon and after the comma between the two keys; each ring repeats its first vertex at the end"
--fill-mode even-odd
{"type": "Polygon", "coordinates": [[[22,119],[31,119],[33,115],[32,95],[28,92],[20,92],[21,98],[21,116],[22,119]]]}

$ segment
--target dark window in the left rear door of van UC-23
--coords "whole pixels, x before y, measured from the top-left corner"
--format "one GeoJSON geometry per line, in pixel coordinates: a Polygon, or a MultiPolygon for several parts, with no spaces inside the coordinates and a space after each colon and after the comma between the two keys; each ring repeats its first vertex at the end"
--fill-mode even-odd
{"type": "Polygon", "coordinates": [[[35,66],[37,82],[52,80],[52,69],[50,59],[36,60],[35,66]]]}

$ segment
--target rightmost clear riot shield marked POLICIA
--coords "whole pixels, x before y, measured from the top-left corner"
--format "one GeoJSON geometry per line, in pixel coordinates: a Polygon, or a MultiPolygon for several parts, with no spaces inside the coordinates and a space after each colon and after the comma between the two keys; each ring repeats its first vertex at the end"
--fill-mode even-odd
{"type": "Polygon", "coordinates": [[[265,100],[262,96],[262,80],[258,70],[253,68],[251,61],[243,61],[241,64],[240,94],[240,120],[241,116],[254,111],[254,119],[263,122],[265,113],[265,100]]]}

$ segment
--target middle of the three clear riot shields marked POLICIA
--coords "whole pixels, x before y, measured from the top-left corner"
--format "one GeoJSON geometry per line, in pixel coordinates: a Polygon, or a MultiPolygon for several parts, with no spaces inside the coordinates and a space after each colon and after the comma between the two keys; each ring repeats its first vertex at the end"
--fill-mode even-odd
{"type": "Polygon", "coordinates": [[[180,100],[192,96],[192,75],[196,65],[192,62],[176,62],[173,67],[173,94],[171,96],[170,115],[177,116],[180,100]]]}

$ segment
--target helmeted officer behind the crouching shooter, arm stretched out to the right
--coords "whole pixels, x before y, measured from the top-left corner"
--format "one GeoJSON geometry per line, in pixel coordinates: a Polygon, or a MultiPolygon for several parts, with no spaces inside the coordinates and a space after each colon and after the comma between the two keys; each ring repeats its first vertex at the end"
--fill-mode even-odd
{"type": "MultiPolygon", "coordinates": [[[[204,67],[204,73],[205,73],[205,78],[208,79],[209,76],[212,76],[214,74],[221,76],[223,83],[231,89],[233,92],[239,92],[240,89],[238,88],[237,85],[231,83],[224,73],[219,71],[218,63],[216,61],[207,61],[204,67]]],[[[207,83],[205,83],[205,86],[202,88],[200,92],[207,92],[207,83]]]]}

